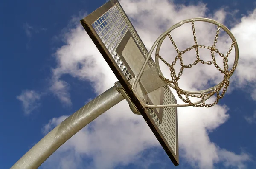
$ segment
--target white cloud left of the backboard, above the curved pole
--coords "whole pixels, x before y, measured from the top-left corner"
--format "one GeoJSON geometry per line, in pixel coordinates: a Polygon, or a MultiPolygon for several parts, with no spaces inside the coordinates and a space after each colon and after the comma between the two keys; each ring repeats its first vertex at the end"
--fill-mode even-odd
{"type": "Polygon", "coordinates": [[[63,103],[71,104],[68,84],[60,80],[63,74],[67,73],[74,78],[89,81],[96,93],[102,93],[107,89],[105,84],[100,84],[102,80],[108,79],[109,84],[117,81],[108,65],[102,64],[105,60],[80,25],[71,29],[71,32],[67,32],[63,37],[67,45],[62,46],[55,53],[58,67],[52,70],[50,87],[52,93],[63,103]],[[112,76],[106,77],[103,71],[112,76]]]}

